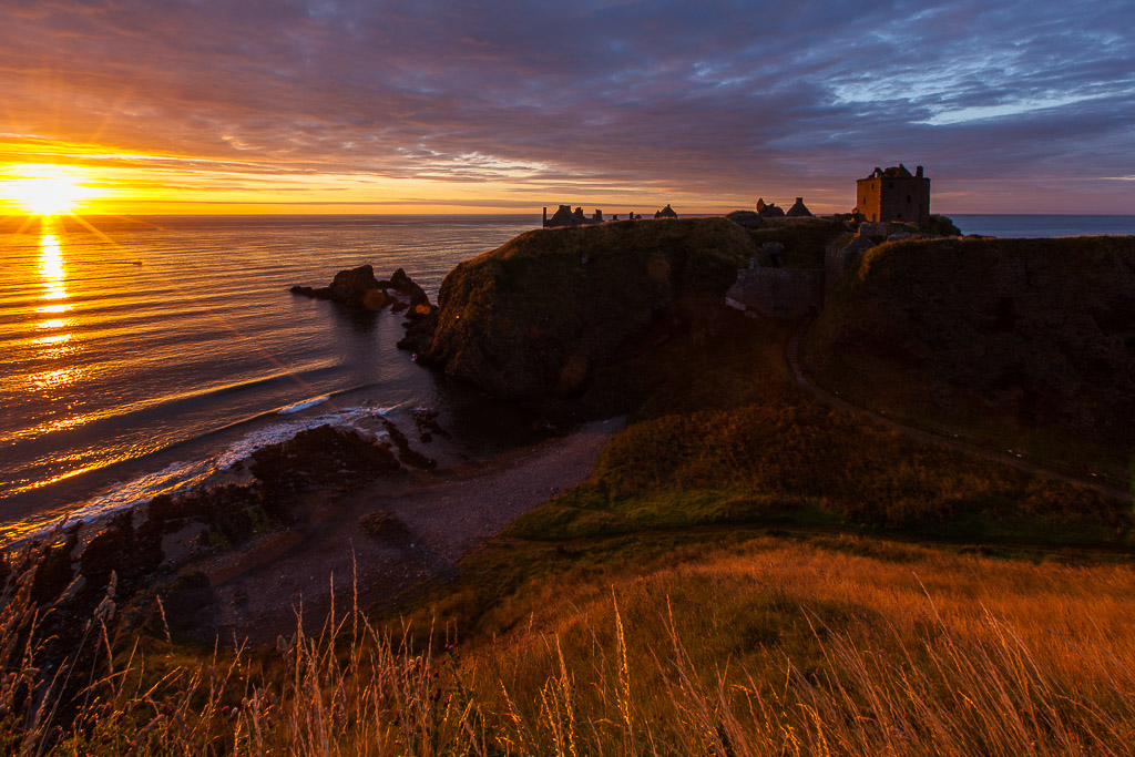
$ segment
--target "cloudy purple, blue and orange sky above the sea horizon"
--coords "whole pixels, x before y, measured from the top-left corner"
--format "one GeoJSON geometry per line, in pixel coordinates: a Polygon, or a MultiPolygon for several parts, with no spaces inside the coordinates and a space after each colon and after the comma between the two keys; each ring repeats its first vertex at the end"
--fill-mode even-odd
{"type": "Polygon", "coordinates": [[[0,212],[1135,213],[1135,2],[0,0],[0,212]]]}

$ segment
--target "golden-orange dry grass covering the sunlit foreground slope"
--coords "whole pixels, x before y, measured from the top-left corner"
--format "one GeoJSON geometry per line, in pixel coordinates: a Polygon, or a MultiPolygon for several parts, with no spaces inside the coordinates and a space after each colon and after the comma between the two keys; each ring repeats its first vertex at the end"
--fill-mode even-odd
{"type": "MultiPolygon", "coordinates": [[[[1129,752],[1128,566],[847,537],[832,546],[756,539],[639,577],[533,582],[512,608],[511,631],[469,639],[460,654],[415,646],[405,629],[392,636],[354,607],[318,638],[297,630],[271,653],[193,657],[144,640],[104,659],[67,716],[68,703],[52,699],[58,674],[37,670],[26,603],[9,595],[0,626],[6,746],[104,755],[1129,752]]],[[[25,584],[14,584],[17,595],[25,584]]],[[[104,657],[108,612],[91,639],[104,657]]]]}

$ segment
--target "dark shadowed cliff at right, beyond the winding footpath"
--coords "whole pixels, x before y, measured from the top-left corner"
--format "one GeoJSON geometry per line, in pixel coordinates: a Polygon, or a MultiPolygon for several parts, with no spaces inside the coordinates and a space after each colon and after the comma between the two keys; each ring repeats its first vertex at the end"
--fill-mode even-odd
{"type": "Polygon", "coordinates": [[[1135,445],[1135,237],[881,245],[830,293],[808,363],[873,404],[1135,445]]]}

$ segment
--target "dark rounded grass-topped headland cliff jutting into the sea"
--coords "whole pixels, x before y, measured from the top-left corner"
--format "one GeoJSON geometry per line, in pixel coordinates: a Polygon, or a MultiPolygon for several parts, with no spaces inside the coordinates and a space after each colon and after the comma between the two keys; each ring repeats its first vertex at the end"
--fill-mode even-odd
{"type": "Polygon", "coordinates": [[[651,325],[722,303],[754,253],[723,218],[529,232],[445,278],[419,358],[499,397],[571,394],[651,325]]]}

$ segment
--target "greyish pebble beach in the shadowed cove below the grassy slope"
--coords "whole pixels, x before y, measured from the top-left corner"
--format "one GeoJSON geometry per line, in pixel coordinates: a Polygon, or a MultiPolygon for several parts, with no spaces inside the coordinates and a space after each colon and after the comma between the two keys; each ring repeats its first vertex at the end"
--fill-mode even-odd
{"type": "Polygon", "coordinates": [[[270,645],[294,630],[301,605],[305,629],[318,630],[333,587],[336,607],[347,608],[353,587],[364,606],[444,575],[508,522],[589,478],[621,426],[619,419],[588,423],[480,463],[379,479],[342,499],[312,494],[296,528],[194,565],[209,577],[213,602],[201,608],[193,633],[270,645]],[[377,510],[397,516],[409,533],[368,536],[359,519],[377,510]]]}

